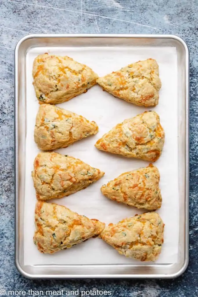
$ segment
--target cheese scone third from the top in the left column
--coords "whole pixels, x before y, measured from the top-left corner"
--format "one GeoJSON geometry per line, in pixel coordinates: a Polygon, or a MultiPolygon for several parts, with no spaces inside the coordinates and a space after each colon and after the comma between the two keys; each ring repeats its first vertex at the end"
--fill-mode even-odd
{"type": "Polygon", "coordinates": [[[85,189],[104,175],[83,161],[54,152],[39,153],[32,178],[38,200],[61,198],[85,189]]]}

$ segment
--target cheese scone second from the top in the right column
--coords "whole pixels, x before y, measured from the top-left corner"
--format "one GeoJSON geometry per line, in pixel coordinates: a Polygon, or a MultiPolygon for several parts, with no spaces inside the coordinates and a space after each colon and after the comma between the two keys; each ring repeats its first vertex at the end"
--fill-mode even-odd
{"type": "Polygon", "coordinates": [[[113,154],[155,162],[161,155],[164,138],[159,115],[145,111],[116,125],[95,146],[113,154]]]}

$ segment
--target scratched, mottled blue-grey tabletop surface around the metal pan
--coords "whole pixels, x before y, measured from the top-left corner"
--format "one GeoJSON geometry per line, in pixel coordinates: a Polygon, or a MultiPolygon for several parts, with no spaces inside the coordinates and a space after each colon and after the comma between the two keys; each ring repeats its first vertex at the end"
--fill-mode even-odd
{"type": "MultiPolygon", "coordinates": [[[[0,289],[111,290],[113,297],[198,296],[197,0],[0,0],[0,289]],[[32,33],[176,34],[190,50],[190,261],[175,280],[29,280],[14,264],[14,48],[32,33]]],[[[7,293],[4,296],[8,296],[7,293]]],[[[44,295],[45,296],[45,295],[44,295]]]]}

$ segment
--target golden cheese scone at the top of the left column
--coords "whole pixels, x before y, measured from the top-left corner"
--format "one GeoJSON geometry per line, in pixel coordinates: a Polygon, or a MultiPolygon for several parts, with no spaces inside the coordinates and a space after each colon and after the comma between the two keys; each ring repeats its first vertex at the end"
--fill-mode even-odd
{"type": "Polygon", "coordinates": [[[45,53],[34,59],[32,76],[40,103],[62,103],[85,93],[98,75],[88,66],[67,56],[45,53]]]}

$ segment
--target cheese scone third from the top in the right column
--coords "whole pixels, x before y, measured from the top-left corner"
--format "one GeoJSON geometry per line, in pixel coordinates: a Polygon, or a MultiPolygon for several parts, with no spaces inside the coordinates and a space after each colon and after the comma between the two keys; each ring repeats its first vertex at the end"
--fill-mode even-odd
{"type": "Polygon", "coordinates": [[[122,173],[101,187],[102,194],[117,202],[145,209],[161,207],[159,171],[150,164],[137,170],[122,173]]]}

